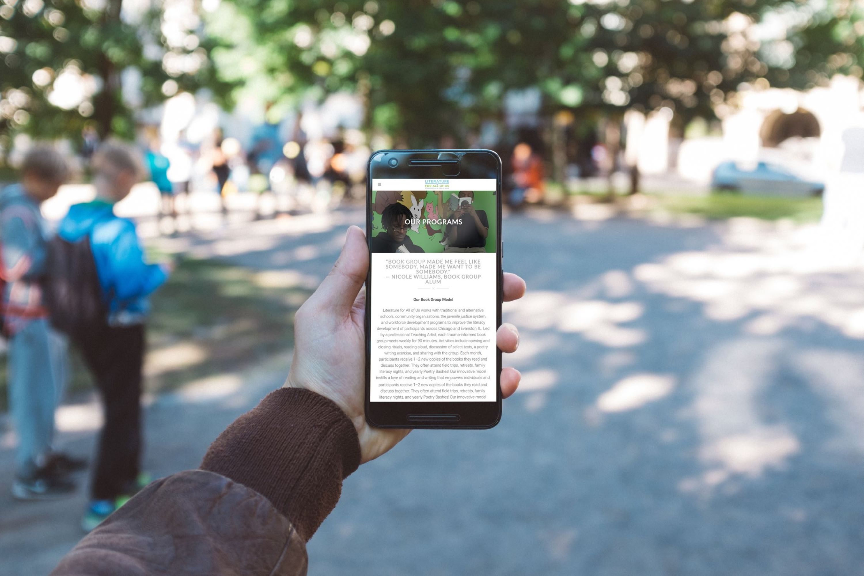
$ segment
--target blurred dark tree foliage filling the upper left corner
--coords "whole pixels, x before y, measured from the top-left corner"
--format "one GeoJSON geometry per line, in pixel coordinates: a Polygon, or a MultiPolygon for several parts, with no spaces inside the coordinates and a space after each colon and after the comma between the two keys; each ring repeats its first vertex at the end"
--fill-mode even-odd
{"type": "Polygon", "coordinates": [[[135,111],[201,85],[226,95],[191,0],[2,0],[0,147],[16,132],[134,134],[135,111]]]}

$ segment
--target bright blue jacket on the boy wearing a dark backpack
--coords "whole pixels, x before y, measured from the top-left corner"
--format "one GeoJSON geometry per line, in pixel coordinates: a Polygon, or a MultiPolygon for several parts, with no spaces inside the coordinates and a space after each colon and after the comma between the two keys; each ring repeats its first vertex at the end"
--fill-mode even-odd
{"type": "Polygon", "coordinates": [[[114,206],[104,200],[72,206],[57,229],[57,235],[69,242],[77,242],[86,234],[90,235],[99,284],[109,305],[109,322],[142,322],[149,311],[148,294],[165,282],[168,272],[144,261],[135,224],[116,216],[114,206]]]}

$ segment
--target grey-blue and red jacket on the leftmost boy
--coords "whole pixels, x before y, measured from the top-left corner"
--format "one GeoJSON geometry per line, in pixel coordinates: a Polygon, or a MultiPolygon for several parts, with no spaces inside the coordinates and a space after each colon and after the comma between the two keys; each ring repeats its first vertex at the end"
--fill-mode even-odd
{"type": "Polygon", "coordinates": [[[2,294],[6,327],[20,330],[30,319],[47,315],[42,302],[41,276],[48,259],[48,225],[39,202],[18,184],[0,193],[0,245],[6,280],[2,294]]]}

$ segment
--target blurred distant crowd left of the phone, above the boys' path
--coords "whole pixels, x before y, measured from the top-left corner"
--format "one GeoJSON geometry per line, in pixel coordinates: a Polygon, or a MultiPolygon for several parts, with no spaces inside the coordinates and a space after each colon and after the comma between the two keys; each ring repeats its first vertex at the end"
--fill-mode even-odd
{"type": "Polygon", "coordinates": [[[283,138],[279,123],[264,122],[244,146],[221,128],[197,142],[186,130],[166,139],[156,126],[143,128],[145,165],[162,195],[162,215],[176,217],[194,191],[218,193],[223,214],[229,197],[239,192],[256,193],[260,200],[270,195],[276,214],[318,212],[346,197],[362,198],[370,150],[356,130],[309,139],[298,123],[293,132],[283,138]]]}

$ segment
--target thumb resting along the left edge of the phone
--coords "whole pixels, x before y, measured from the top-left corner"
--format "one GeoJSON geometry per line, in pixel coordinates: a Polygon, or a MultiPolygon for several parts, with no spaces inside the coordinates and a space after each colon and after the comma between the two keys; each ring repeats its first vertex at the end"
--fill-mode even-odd
{"type": "Polygon", "coordinates": [[[366,246],[365,234],[357,226],[351,226],[348,228],[339,259],[309,300],[314,301],[316,306],[333,310],[338,315],[346,315],[366,281],[368,268],[369,249],[366,246]]]}

